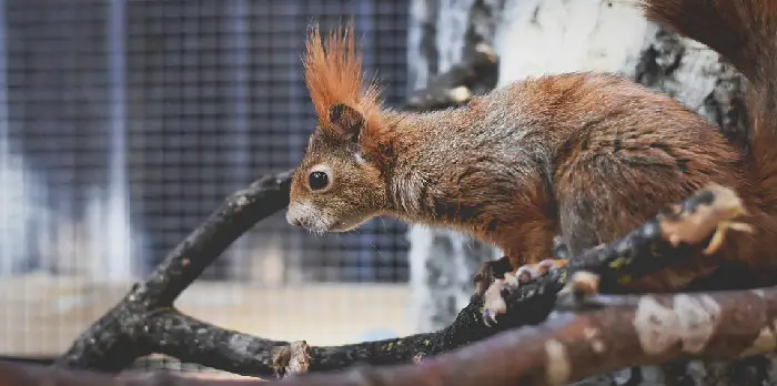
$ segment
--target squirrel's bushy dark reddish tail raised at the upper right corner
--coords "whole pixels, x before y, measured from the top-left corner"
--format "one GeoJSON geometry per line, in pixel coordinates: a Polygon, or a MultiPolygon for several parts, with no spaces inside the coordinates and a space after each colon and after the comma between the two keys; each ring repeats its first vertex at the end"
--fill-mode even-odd
{"type": "MultiPolygon", "coordinates": [[[[777,210],[777,0],[637,0],[645,16],[717,51],[744,74],[755,186],[777,210]]],[[[771,212],[770,211],[770,212],[771,212]]]]}

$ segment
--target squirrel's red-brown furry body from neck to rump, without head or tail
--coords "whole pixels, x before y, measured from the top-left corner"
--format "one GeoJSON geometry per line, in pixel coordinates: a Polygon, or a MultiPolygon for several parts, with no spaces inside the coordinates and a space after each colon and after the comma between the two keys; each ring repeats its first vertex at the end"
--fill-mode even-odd
{"type": "Polygon", "coordinates": [[[745,177],[740,153],[712,124],[615,74],[526,78],[404,124],[395,172],[406,176],[392,189],[408,203],[403,214],[468,226],[528,258],[551,253],[534,243],[552,233],[581,252],[706,184],[738,190],[745,177]],[[406,181],[427,187],[416,194],[406,181]]]}

